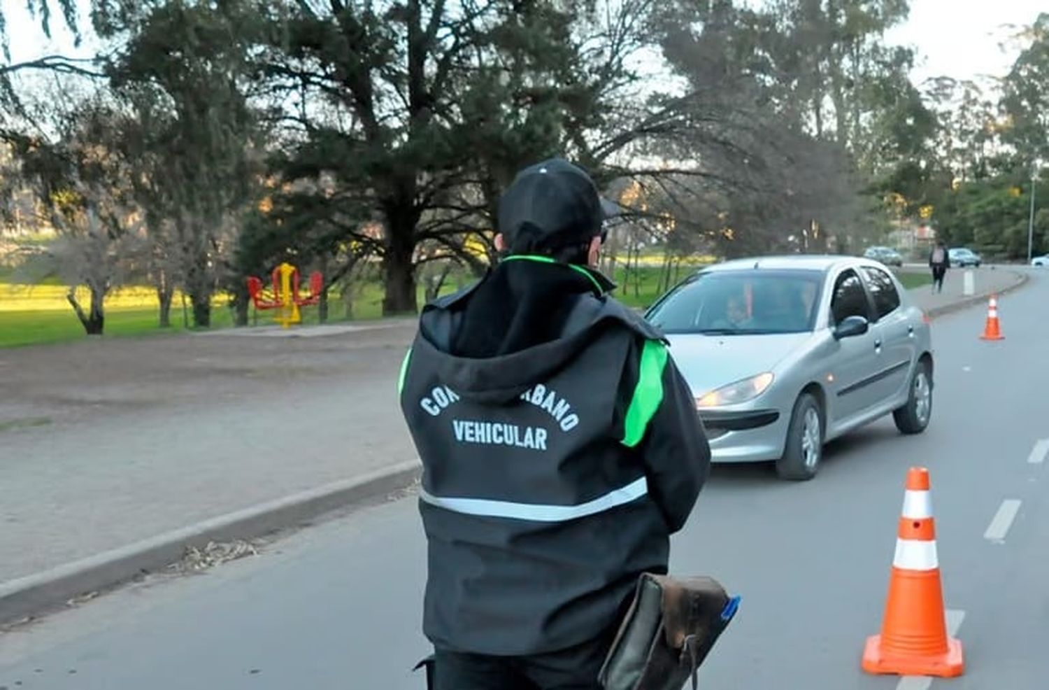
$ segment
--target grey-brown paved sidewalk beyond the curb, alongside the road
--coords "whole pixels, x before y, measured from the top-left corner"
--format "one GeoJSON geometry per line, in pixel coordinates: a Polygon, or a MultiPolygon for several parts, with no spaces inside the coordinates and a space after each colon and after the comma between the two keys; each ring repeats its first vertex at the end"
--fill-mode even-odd
{"type": "MultiPolygon", "coordinates": [[[[975,271],[977,293],[1018,273],[975,271]]],[[[963,271],[926,309],[964,299],[963,271]]],[[[5,582],[414,458],[395,399],[412,321],[323,337],[0,350],[5,582]]]]}

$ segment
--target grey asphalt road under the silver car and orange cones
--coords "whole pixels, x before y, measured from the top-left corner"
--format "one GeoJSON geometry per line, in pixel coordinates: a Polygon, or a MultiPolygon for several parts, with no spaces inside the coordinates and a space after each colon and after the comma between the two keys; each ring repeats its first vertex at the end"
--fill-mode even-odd
{"type": "MultiPolygon", "coordinates": [[[[833,444],[808,483],[715,468],[672,564],[743,595],[702,687],[1049,685],[1047,305],[1049,274],[1001,300],[1004,341],[978,339],[982,308],[935,322],[934,419],[922,436],[879,422],[833,444]],[[930,685],[859,670],[913,464],[932,472],[945,599],[967,663],[963,677],[930,685]],[[1007,507],[996,520],[1006,501],[1020,501],[1014,519],[1007,507]]],[[[259,557],[2,633],[0,690],[420,689],[408,669],[427,650],[423,564],[413,499],[363,510],[259,557]]]]}

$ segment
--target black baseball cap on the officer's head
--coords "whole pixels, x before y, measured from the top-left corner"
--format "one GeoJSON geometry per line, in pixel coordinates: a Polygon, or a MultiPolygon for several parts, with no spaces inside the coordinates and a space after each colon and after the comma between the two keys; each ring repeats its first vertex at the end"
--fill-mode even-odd
{"type": "Polygon", "coordinates": [[[594,181],[564,159],[524,168],[499,200],[498,231],[511,253],[585,244],[603,235],[604,219],[594,181]]]}

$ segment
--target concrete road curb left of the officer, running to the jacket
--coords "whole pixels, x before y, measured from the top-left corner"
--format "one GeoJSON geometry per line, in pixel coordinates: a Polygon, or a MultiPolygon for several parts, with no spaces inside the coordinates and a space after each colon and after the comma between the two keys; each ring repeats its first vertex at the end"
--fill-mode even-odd
{"type": "Polygon", "coordinates": [[[190,547],[202,547],[210,541],[255,539],[366,503],[411,485],[421,472],[419,460],[402,462],[0,583],[0,624],[56,609],[87,592],[159,570],[183,558],[190,547]]]}

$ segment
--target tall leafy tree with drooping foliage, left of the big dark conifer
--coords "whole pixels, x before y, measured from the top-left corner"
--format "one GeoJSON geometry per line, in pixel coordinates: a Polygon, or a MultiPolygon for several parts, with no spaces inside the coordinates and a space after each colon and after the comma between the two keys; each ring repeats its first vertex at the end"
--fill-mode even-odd
{"type": "Polygon", "coordinates": [[[258,117],[245,92],[255,13],[247,2],[102,3],[100,34],[128,36],[107,71],[144,123],[128,147],[142,162],[137,193],[164,266],[153,274],[167,320],[173,272],[193,322],[211,323],[242,215],[256,198],[258,117]]]}

